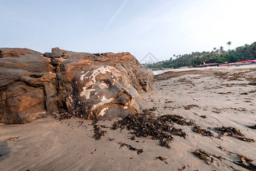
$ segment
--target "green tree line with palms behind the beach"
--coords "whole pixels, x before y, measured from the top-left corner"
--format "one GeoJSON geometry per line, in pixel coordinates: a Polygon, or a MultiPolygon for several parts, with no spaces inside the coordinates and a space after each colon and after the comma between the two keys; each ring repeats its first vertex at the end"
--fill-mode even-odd
{"type": "MultiPolygon", "coordinates": [[[[230,46],[231,42],[227,42],[230,46]]],[[[191,54],[173,55],[169,60],[163,60],[156,63],[144,63],[148,68],[179,68],[196,67],[207,63],[233,63],[244,60],[256,59],[256,42],[239,46],[234,50],[224,50],[224,47],[214,47],[212,51],[192,52],[191,54]]]]}

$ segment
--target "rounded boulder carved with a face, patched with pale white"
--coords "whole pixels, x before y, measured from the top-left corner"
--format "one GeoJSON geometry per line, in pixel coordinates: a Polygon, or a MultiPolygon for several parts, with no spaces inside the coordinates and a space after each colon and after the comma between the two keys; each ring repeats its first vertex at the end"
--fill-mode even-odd
{"type": "MultiPolygon", "coordinates": [[[[76,62],[72,65],[76,66],[76,62]]],[[[139,93],[126,76],[111,66],[86,66],[66,88],[67,110],[78,117],[109,119],[140,111],[139,93]]]]}

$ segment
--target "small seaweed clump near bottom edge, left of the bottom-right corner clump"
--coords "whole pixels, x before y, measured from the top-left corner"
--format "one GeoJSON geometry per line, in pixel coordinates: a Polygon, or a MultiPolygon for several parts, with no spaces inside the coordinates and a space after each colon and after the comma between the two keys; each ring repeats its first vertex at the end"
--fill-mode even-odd
{"type": "Polygon", "coordinates": [[[208,154],[201,149],[196,149],[193,153],[196,154],[196,156],[199,157],[201,160],[205,160],[208,165],[210,165],[211,162],[216,162],[217,159],[222,161],[222,156],[217,156],[216,154],[208,154]]]}

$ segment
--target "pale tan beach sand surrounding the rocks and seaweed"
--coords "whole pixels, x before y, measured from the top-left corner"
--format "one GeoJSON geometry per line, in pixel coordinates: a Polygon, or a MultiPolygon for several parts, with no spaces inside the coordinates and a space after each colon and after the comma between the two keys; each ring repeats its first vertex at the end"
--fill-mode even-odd
{"type": "MultiPolygon", "coordinates": [[[[143,93],[141,99],[144,108],[157,107],[156,115],[181,115],[195,120],[202,128],[231,126],[256,140],[256,130],[246,127],[256,124],[256,86],[248,84],[248,78],[255,75],[255,65],[172,70],[156,76],[153,90],[143,93]],[[228,73],[220,78],[221,72],[228,73]],[[184,109],[190,104],[200,108],[184,109]]],[[[117,120],[120,119],[97,124],[110,126],[117,120]]],[[[214,131],[214,137],[205,137],[193,132],[193,127],[174,124],[188,136],[174,136],[167,149],[150,138],[128,139],[131,135],[127,130],[103,128],[107,133],[95,140],[91,123],[77,118],[60,122],[48,117],[30,124],[2,124],[0,170],[178,170],[183,166],[185,170],[247,170],[234,164],[234,157],[218,146],[256,160],[256,143],[227,136],[218,139],[214,131]],[[18,139],[5,141],[10,137],[18,139]],[[144,153],[139,155],[126,146],[120,148],[119,142],[143,149],[144,153]],[[208,165],[192,153],[196,148],[226,160],[208,165]],[[155,160],[157,156],[167,158],[168,164],[155,160]]]]}

